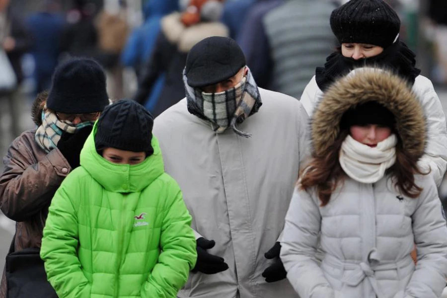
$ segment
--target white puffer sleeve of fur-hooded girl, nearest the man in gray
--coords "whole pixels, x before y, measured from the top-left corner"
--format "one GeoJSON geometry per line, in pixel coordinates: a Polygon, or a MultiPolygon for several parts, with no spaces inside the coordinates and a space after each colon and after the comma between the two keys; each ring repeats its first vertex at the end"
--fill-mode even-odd
{"type": "Polygon", "coordinates": [[[335,296],[315,258],[320,225],[317,203],[307,192],[296,189],[286,215],[280,256],[287,278],[299,297],[335,296]]]}

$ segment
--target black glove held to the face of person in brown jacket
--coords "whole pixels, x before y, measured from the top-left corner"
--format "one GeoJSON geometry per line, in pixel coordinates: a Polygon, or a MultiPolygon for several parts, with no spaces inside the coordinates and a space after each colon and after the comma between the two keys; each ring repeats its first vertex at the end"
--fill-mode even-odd
{"type": "Polygon", "coordinates": [[[79,166],[80,150],[91,133],[93,126],[89,125],[79,129],[74,134],[63,132],[58,142],[58,149],[70,163],[72,169],[79,166]]]}

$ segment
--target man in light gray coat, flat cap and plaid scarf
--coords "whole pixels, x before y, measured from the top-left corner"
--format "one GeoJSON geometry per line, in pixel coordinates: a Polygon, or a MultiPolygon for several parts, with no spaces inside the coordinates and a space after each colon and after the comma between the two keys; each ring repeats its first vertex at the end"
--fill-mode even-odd
{"type": "Polygon", "coordinates": [[[166,172],[193,217],[198,260],[180,298],[296,298],[279,258],[309,150],[301,103],[258,88],[236,42],[189,52],[186,98],[154,121],[166,172]]]}

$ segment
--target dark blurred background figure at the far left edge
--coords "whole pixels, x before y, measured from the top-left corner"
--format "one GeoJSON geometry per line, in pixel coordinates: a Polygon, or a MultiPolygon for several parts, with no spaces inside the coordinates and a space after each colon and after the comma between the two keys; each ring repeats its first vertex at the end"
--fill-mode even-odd
{"type": "Polygon", "coordinates": [[[15,137],[20,134],[17,90],[23,80],[21,58],[30,49],[31,38],[25,24],[10,9],[9,0],[0,0],[0,43],[17,79],[15,88],[0,90],[0,97],[8,100],[9,114],[12,118],[12,133],[15,137]]]}

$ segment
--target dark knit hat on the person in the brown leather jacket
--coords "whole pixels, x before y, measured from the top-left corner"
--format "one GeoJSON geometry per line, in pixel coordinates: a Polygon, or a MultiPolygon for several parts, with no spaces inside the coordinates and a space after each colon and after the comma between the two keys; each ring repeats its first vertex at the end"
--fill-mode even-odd
{"type": "Polygon", "coordinates": [[[93,59],[73,58],[56,68],[47,107],[55,112],[101,112],[109,104],[106,77],[93,59]]]}

